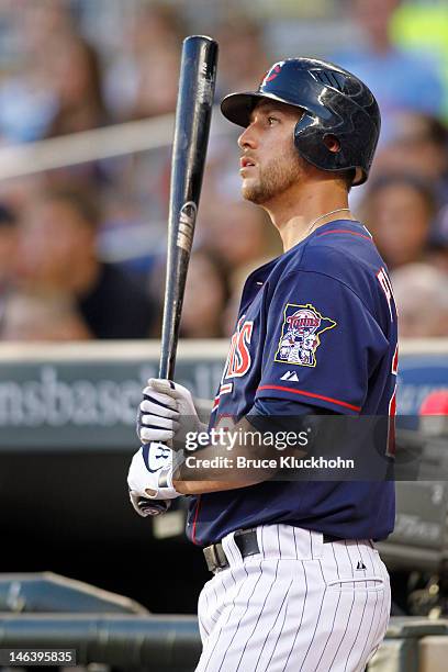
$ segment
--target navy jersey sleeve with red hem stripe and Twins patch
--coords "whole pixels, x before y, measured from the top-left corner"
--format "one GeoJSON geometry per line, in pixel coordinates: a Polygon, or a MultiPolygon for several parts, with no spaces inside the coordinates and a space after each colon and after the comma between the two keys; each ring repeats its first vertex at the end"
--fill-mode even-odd
{"type": "Polygon", "coordinates": [[[366,303],[339,280],[296,271],[276,287],[267,309],[256,400],[360,413],[389,345],[366,303]]]}

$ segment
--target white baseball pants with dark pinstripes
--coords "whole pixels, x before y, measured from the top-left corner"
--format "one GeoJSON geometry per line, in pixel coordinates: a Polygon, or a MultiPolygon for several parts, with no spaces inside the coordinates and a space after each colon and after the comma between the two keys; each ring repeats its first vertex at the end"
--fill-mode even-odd
{"type": "Polygon", "coordinates": [[[361,672],[385,634],[389,574],[370,541],[323,544],[289,525],[257,528],[260,553],[242,559],[199,597],[197,672],[361,672]],[[362,569],[366,568],[366,569],[362,569]]]}

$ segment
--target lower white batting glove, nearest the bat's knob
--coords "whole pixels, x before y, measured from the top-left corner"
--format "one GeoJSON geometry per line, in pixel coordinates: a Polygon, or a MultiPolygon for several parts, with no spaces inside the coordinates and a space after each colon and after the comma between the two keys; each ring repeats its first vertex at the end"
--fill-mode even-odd
{"type": "Polygon", "coordinates": [[[172,485],[173,452],[164,444],[145,444],[132,458],[127,474],[131,502],[138,497],[173,500],[180,496],[172,485]]]}

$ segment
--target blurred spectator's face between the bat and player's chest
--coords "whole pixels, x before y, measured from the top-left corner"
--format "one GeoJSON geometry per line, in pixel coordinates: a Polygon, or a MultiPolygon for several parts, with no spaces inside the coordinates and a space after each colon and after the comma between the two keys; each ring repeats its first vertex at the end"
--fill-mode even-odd
{"type": "Polygon", "coordinates": [[[180,333],[183,338],[224,336],[223,314],[228,300],[227,280],[222,265],[205,250],[191,257],[180,333]]]}

